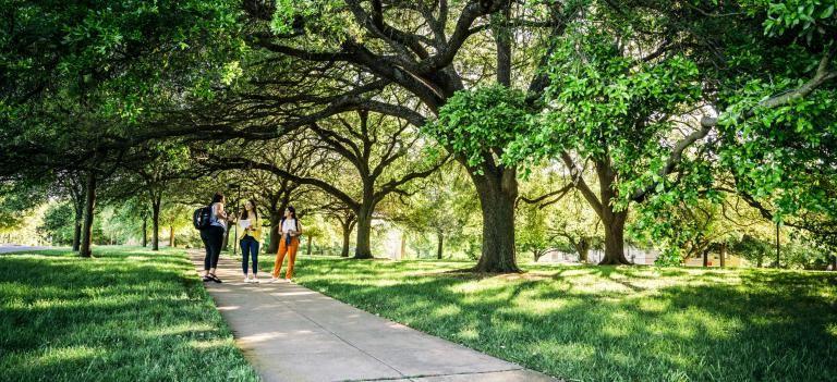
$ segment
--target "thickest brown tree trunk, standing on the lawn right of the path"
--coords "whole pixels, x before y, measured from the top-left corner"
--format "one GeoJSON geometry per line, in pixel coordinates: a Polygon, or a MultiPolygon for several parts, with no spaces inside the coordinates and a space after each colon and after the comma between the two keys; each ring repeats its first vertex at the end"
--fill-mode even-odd
{"type": "Polygon", "coordinates": [[[483,247],[476,272],[520,272],[514,249],[514,200],[518,181],[514,168],[469,171],[480,196],[483,212],[483,247]]]}

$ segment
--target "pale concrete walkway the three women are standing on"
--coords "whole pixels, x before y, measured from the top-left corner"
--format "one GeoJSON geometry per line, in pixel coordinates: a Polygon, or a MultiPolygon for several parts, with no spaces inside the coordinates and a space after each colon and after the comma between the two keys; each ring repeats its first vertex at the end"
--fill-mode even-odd
{"type": "Polygon", "coordinates": [[[556,381],[296,284],[246,284],[225,256],[218,267],[223,283],[205,285],[265,381],[556,381]]]}

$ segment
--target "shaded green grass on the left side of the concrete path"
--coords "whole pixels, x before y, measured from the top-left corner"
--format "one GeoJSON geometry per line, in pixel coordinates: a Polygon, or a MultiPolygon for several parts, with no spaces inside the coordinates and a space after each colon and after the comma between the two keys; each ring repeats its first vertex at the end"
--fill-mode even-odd
{"type": "Polygon", "coordinates": [[[0,380],[258,380],[183,251],[95,256],[0,256],[0,380]]]}

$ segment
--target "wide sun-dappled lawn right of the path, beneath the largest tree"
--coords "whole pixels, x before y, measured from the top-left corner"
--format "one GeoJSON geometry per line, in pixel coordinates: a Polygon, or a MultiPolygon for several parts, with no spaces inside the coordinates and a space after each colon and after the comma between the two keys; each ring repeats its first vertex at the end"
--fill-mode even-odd
{"type": "Polygon", "coordinates": [[[298,261],[305,286],[567,380],[837,380],[835,273],[298,261]]]}

